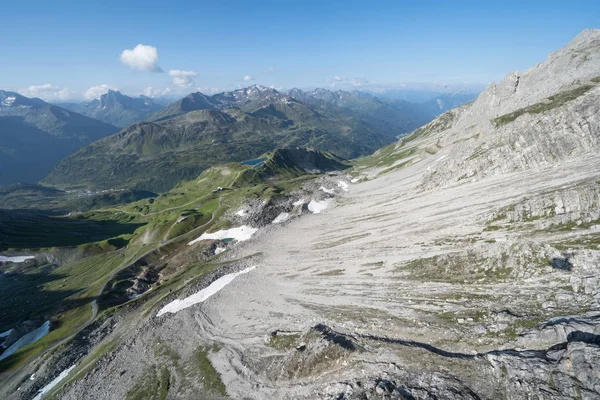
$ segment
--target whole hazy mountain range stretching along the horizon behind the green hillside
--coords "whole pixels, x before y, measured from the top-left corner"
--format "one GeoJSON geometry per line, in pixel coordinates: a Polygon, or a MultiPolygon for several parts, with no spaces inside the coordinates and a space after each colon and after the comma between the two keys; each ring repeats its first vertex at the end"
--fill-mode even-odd
{"type": "Polygon", "coordinates": [[[310,146],[344,158],[370,154],[471,99],[443,95],[416,104],[359,91],[284,93],[254,85],[213,96],[191,93],[166,107],[113,90],[61,107],[0,93],[0,185],[34,183],[69,156],[44,184],[152,191],[276,148],[310,146]],[[79,149],[117,132],[115,126],[127,128],[79,149]]]}

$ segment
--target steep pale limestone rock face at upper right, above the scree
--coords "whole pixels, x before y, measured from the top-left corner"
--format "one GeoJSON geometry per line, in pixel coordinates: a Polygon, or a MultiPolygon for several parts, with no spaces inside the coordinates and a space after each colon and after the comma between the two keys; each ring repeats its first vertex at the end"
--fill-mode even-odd
{"type": "Polygon", "coordinates": [[[552,165],[598,149],[599,96],[600,30],[590,29],[402,139],[397,151],[415,145],[444,155],[424,189],[552,165]]]}

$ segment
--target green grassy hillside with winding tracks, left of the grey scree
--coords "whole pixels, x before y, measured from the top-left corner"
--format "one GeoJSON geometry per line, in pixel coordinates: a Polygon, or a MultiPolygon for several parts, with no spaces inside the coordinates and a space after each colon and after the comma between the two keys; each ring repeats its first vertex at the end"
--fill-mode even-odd
{"type": "Polygon", "coordinates": [[[316,173],[349,167],[339,157],[309,149],[278,150],[262,159],[256,165],[208,168],[167,193],[68,217],[0,212],[0,251],[35,255],[23,264],[0,265],[0,301],[11,305],[0,312],[0,331],[31,318],[51,321],[47,336],[0,362],[0,375],[68,340],[96,312],[110,313],[132,301],[126,290],[140,274],[160,276],[160,283],[152,283],[155,299],[211,271],[202,262],[208,249],[187,243],[207,230],[229,226],[228,210],[252,200],[272,201],[316,173]]]}

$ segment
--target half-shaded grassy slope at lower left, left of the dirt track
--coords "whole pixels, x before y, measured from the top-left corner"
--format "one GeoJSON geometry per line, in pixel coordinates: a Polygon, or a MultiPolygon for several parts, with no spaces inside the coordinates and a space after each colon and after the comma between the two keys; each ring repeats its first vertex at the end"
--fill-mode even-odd
{"type": "Polygon", "coordinates": [[[50,320],[50,332],[0,362],[12,371],[81,329],[92,317],[91,302],[109,275],[139,257],[137,247],[79,259],[59,267],[17,266],[0,279],[0,331],[30,318],[50,320]]]}

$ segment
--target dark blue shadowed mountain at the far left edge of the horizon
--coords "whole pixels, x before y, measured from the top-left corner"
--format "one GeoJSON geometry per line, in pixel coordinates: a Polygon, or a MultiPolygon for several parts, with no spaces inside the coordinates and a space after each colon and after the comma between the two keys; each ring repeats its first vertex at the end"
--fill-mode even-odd
{"type": "Polygon", "coordinates": [[[37,182],[81,146],[117,131],[43,100],[0,90],[0,186],[37,182]]]}

